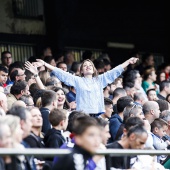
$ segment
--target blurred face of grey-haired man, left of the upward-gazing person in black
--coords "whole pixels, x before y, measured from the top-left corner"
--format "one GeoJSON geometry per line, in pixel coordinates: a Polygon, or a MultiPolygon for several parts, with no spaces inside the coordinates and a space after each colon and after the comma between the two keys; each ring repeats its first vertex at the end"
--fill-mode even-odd
{"type": "Polygon", "coordinates": [[[26,111],[26,120],[21,120],[22,124],[21,124],[21,128],[23,130],[23,135],[22,138],[26,138],[30,132],[31,132],[31,128],[32,128],[32,116],[31,113],[29,111],[26,111]]]}

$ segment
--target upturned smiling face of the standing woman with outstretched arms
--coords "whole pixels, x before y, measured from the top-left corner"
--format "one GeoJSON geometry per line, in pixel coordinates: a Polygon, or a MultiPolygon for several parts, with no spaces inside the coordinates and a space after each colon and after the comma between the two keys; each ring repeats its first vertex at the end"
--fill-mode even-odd
{"type": "Polygon", "coordinates": [[[83,73],[84,76],[86,75],[93,75],[94,73],[94,67],[93,64],[89,61],[85,61],[82,66],[81,73],[83,73]]]}

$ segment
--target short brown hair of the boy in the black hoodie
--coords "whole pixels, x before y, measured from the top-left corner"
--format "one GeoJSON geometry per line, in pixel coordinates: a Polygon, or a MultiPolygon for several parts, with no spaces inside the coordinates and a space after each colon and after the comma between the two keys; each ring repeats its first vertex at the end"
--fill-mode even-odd
{"type": "Polygon", "coordinates": [[[67,110],[54,108],[49,114],[49,122],[52,126],[58,126],[62,120],[66,120],[67,110]]]}

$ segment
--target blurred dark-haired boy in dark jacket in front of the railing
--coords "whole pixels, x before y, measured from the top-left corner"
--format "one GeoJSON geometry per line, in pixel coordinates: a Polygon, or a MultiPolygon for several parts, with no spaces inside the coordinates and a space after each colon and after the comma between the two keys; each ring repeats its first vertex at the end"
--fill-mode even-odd
{"type": "MultiPolygon", "coordinates": [[[[74,122],[75,145],[71,154],[60,157],[52,170],[86,169],[92,162],[93,153],[100,146],[100,128],[97,121],[90,116],[77,118],[74,122]],[[88,161],[88,162],[87,162],[88,161]]],[[[93,161],[92,169],[96,163],[93,161]]]]}

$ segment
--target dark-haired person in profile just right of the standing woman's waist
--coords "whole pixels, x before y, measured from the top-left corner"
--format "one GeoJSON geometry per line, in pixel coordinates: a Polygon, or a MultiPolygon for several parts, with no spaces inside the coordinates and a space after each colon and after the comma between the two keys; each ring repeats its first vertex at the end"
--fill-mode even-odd
{"type": "Polygon", "coordinates": [[[109,98],[104,98],[104,106],[105,106],[105,112],[101,114],[99,117],[102,119],[105,119],[108,121],[113,113],[113,102],[109,98]]]}

